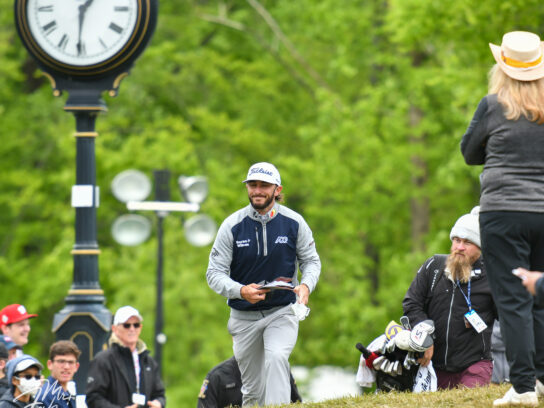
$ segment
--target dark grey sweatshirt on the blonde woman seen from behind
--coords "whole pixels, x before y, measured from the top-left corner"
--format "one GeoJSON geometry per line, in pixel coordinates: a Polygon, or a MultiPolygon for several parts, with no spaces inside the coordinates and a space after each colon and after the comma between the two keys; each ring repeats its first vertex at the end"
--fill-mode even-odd
{"type": "Polygon", "coordinates": [[[508,120],[497,95],[485,96],[461,140],[467,164],[484,164],[480,212],[544,212],[544,124],[508,120]]]}

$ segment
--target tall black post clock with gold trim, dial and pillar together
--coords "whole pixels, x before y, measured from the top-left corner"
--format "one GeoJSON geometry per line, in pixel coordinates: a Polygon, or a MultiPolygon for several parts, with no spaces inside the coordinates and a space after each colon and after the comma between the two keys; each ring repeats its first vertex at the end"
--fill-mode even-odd
{"type": "Polygon", "coordinates": [[[15,0],[21,40],[50,80],[53,94],[68,93],[64,110],[76,122],[73,283],[64,308],[54,316],[52,330],[57,340],[72,340],[82,351],[75,376],[78,394],[85,392],[90,361],[105,347],[112,321],[99,282],[95,122],[107,110],[102,93],[117,95],[121,80],[149,43],[158,13],[158,0],[128,0],[125,6],[113,3],[50,0],[41,5],[15,0]],[[78,35],[70,38],[74,32],[78,35]]]}

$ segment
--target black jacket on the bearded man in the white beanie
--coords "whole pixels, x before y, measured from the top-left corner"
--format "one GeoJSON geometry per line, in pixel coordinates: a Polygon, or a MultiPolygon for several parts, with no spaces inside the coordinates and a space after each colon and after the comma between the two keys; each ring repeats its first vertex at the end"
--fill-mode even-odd
{"type": "Polygon", "coordinates": [[[446,276],[447,255],[434,255],[427,259],[412,281],[402,302],[404,314],[412,327],[425,319],[435,324],[433,367],[458,373],[480,360],[491,360],[491,333],[497,318],[487,276],[479,258],[472,265],[470,301],[472,309],[487,324],[477,333],[465,325],[468,304],[468,284],[461,283],[461,290],[446,276]]]}

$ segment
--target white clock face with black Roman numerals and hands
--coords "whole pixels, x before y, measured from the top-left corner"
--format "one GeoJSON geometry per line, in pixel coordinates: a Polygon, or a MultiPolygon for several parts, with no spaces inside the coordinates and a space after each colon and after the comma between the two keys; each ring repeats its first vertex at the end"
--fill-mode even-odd
{"type": "Polygon", "coordinates": [[[123,51],[140,13],[139,0],[28,0],[27,22],[37,45],[72,66],[97,65],[123,51]]]}

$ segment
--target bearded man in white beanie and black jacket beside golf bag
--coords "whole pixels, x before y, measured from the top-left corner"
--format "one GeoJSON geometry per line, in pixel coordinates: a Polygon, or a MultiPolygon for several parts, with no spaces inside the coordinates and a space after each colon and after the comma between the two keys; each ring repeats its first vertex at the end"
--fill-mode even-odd
{"type": "Polygon", "coordinates": [[[402,302],[412,326],[430,319],[434,346],[419,360],[432,360],[438,388],[469,388],[491,381],[491,333],[497,318],[481,257],[479,207],[451,229],[449,255],[434,255],[419,268],[402,302]]]}

